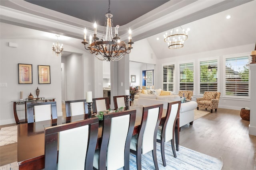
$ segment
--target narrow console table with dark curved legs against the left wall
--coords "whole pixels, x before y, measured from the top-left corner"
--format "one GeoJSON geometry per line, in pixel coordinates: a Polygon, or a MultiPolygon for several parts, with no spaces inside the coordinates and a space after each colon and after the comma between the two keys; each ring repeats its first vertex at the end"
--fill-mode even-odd
{"type": "Polygon", "coordinates": [[[14,113],[14,118],[16,121],[16,124],[20,124],[20,123],[27,123],[27,112],[26,112],[26,102],[54,102],[55,98],[34,98],[33,100],[13,100],[13,113],[14,113]],[[17,105],[24,105],[24,109],[18,109],[17,110],[17,105]],[[25,120],[20,121],[17,111],[25,111],[25,120]]]}

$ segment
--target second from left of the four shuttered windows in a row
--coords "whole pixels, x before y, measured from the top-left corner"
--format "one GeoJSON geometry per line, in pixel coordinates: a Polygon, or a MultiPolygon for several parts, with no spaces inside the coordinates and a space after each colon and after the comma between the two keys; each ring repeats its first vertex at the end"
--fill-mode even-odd
{"type": "Polygon", "coordinates": [[[180,90],[194,90],[194,64],[180,64],[180,90]]]}

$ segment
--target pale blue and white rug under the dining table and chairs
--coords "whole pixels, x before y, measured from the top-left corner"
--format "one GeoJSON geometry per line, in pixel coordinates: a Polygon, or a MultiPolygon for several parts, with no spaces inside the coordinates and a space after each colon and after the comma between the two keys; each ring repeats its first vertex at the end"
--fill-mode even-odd
{"type": "MultiPolygon", "coordinates": [[[[180,150],[176,151],[177,158],[173,157],[170,142],[165,143],[166,167],[162,164],[160,152],[160,144],[157,143],[156,155],[160,170],[221,170],[223,166],[222,158],[214,158],[212,156],[202,154],[195,150],[180,146],[180,150]]],[[[17,162],[0,167],[0,170],[18,170],[17,162]]],[[[148,152],[142,155],[142,169],[154,170],[154,162],[152,153],[148,152]]],[[[122,170],[122,168],[120,168],[122,170]]],[[[130,170],[137,170],[136,156],[130,154],[130,170]]]]}

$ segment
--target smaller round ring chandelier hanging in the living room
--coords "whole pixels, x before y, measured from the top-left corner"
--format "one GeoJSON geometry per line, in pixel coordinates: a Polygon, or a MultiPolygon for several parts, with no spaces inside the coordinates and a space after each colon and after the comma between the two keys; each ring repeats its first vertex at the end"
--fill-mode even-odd
{"type": "Polygon", "coordinates": [[[168,43],[169,49],[179,49],[184,46],[184,42],[186,39],[188,39],[188,31],[190,31],[190,28],[188,28],[186,31],[182,29],[180,26],[180,30],[177,28],[174,31],[174,28],[171,29],[170,35],[167,35],[165,33],[164,35],[164,41],[168,43]]]}

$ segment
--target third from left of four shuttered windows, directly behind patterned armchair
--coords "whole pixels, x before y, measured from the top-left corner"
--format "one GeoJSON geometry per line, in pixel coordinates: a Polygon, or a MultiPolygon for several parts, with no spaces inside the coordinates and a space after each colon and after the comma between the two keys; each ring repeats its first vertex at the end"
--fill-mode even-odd
{"type": "Polygon", "coordinates": [[[218,90],[218,61],[200,62],[200,94],[218,90]]]}

